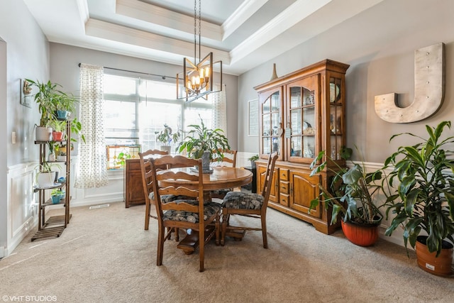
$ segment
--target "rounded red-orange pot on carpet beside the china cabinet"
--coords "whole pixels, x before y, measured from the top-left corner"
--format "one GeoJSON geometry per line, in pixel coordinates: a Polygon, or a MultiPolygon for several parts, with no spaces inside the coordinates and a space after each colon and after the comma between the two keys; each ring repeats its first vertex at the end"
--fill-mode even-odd
{"type": "MultiPolygon", "coordinates": [[[[380,220],[381,221],[381,220],[380,220]]],[[[348,240],[358,246],[372,246],[378,239],[378,226],[375,224],[357,224],[341,220],[342,231],[348,240]]]]}

